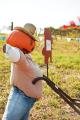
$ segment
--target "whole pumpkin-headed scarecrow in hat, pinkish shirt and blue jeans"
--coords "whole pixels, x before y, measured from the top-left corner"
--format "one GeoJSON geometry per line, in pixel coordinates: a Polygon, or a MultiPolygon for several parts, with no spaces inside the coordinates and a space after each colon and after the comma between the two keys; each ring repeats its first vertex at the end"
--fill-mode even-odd
{"type": "Polygon", "coordinates": [[[3,52],[11,61],[11,90],[2,120],[28,120],[32,106],[42,96],[42,82],[32,83],[42,77],[30,55],[37,41],[35,30],[31,23],[15,27],[3,45],[3,52]]]}

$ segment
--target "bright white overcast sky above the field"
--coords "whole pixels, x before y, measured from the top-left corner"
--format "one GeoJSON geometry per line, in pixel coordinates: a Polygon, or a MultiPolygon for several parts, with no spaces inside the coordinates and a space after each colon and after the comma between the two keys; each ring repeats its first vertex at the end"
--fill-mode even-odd
{"type": "Polygon", "coordinates": [[[0,0],[0,28],[33,23],[58,28],[80,16],[80,0],[0,0]]]}

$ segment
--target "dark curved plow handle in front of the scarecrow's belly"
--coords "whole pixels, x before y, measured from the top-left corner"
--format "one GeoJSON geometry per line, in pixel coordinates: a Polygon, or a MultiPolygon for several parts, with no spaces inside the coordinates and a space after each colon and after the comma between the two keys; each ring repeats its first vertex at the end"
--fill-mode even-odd
{"type": "Polygon", "coordinates": [[[68,94],[66,94],[60,87],[58,87],[52,80],[47,76],[38,77],[33,80],[33,84],[36,84],[39,80],[43,80],[47,85],[56,92],[70,107],[72,107],[80,115],[80,100],[73,99],[68,94]]]}

